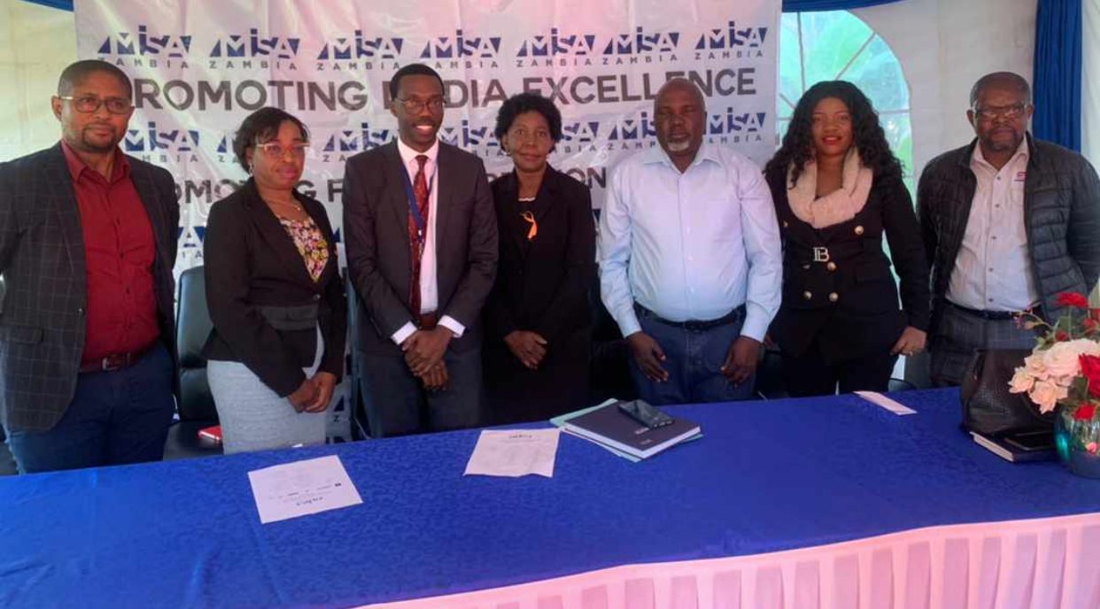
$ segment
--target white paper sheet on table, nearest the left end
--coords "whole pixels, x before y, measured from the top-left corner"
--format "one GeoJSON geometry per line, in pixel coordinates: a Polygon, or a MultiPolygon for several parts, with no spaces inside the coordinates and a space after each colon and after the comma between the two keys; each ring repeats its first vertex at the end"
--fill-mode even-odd
{"type": "Polygon", "coordinates": [[[255,469],[249,481],[264,524],[363,502],[336,455],[255,469]]]}

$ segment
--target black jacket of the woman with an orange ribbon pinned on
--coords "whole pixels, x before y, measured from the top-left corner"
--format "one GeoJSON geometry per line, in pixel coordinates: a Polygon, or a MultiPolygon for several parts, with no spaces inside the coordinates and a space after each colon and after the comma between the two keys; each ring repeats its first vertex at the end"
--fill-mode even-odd
{"type": "Polygon", "coordinates": [[[587,187],[548,167],[530,208],[539,232],[529,243],[524,236],[529,224],[516,209],[516,174],[502,176],[491,188],[501,231],[499,270],[485,306],[491,340],[529,330],[552,344],[588,328],[596,230],[587,187]]]}

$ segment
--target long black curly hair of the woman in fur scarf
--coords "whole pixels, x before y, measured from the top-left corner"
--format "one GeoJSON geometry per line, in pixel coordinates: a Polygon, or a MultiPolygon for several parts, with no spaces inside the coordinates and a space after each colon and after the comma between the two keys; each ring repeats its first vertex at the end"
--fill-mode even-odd
{"type": "Polygon", "coordinates": [[[799,179],[806,163],[814,158],[814,108],[823,99],[835,98],[844,102],[851,113],[851,139],[864,166],[875,173],[875,177],[901,177],[901,162],[890,151],[886,133],[879,124],[879,115],[859,90],[847,80],[826,80],[806,89],[794,107],[791,124],[783,135],[783,144],[765,166],[765,173],[787,173],[794,165],[792,180],[799,179]]]}

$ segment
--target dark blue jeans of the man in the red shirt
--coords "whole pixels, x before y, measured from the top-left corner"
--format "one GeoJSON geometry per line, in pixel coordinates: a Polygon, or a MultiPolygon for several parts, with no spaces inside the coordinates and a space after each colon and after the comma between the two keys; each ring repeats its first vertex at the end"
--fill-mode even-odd
{"type": "Polygon", "coordinates": [[[47,431],[8,430],[21,474],[160,461],[175,411],[172,356],[157,344],[120,370],[82,373],[47,431]]]}

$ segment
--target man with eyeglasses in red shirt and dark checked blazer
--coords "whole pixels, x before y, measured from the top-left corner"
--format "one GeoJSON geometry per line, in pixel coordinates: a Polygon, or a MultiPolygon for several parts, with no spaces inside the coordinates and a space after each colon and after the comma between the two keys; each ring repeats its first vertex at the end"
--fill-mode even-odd
{"type": "Polygon", "coordinates": [[[62,141],[0,165],[0,416],[22,473],[157,461],[172,422],[179,207],[118,148],[130,79],[62,73],[62,141]]]}

